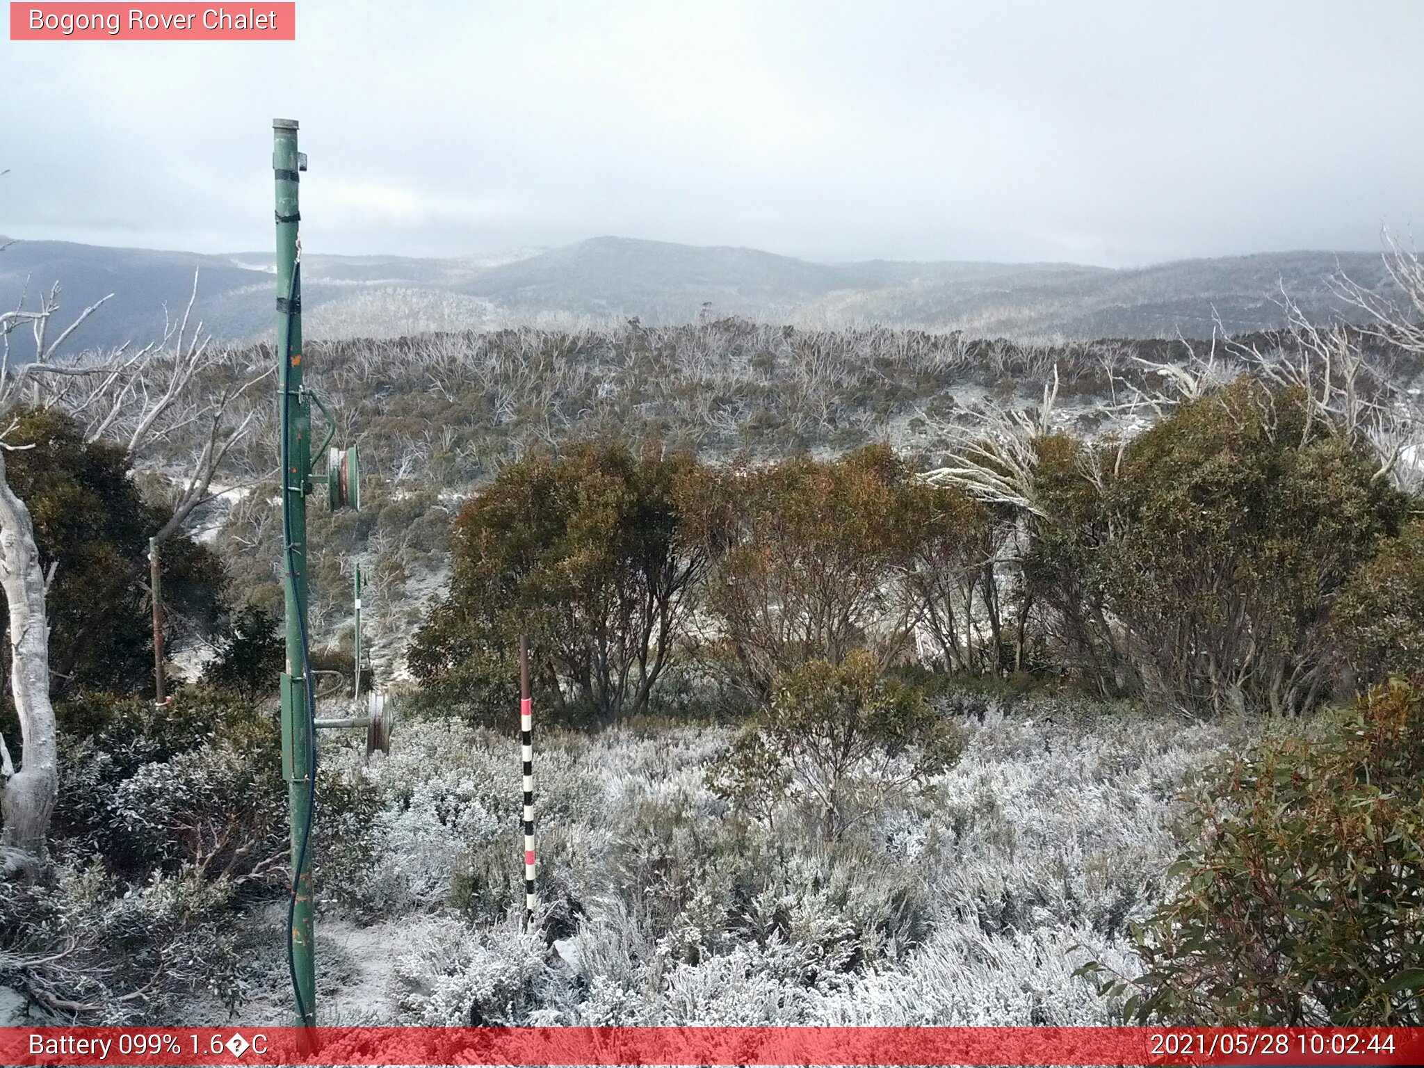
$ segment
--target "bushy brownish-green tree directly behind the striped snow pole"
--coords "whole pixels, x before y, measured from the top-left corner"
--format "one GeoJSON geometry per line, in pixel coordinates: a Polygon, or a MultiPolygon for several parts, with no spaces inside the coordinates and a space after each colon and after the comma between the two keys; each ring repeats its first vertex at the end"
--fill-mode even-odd
{"type": "Polygon", "coordinates": [[[410,666],[436,695],[507,715],[520,634],[561,722],[637,713],[671,658],[706,551],[684,537],[701,466],[656,446],[584,443],[504,468],[456,521],[449,598],[410,666]]]}

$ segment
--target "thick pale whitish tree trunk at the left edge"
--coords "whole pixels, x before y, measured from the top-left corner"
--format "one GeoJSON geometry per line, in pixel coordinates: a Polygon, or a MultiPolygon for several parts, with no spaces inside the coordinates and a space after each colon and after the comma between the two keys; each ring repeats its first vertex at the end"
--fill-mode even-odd
{"type": "Polygon", "coordinates": [[[4,815],[0,844],[40,856],[60,790],[54,706],[50,703],[50,627],[34,524],[30,510],[6,481],[3,451],[0,588],[10,611],[10,689],[23,745],[20,770],[6,783],[0,797],[4,815]]]}

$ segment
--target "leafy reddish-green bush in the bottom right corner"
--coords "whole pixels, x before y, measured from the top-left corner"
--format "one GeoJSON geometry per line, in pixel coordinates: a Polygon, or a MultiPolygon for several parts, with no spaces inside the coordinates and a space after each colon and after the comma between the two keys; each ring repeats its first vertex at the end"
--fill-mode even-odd
{"type": "Polygon", "coordinates": [[[1421,780],[1417,682],[1233,759],[1200,796],[1185,886],[1138,931],[1145,973],[1105,988],[1135,987],[1143,1022],[1420,1025],[1421,780]]]}

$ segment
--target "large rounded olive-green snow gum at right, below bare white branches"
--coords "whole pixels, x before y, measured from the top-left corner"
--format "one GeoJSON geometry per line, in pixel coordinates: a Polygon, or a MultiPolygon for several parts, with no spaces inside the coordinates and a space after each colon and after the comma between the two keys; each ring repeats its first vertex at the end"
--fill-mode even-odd
{"type": "Polygon", "coordinates": [[[1149,692],[1188,708],[1314,708],[1330,612],[1407,497],[1304,397],[1240,379],[1126,449],[1104,501],[1111,605],[1149,692]]]}

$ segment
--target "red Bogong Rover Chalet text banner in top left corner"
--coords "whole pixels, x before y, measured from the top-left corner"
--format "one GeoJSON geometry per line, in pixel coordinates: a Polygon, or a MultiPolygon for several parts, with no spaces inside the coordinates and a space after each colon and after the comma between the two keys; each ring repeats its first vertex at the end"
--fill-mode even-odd
{"type": "Polygon", "coordinates": [[[11,3],[11,41],[295,41],[295,3],[11,3]]]}

